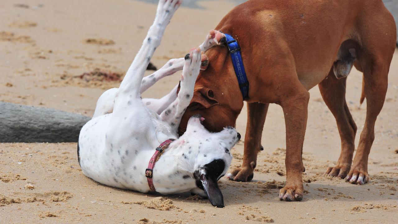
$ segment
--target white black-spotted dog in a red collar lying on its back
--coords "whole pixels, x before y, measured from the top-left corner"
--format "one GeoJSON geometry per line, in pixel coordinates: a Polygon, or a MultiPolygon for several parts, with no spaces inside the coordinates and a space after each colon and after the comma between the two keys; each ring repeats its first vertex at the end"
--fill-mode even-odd
{"type": "Polygon", "coordinates": [[[155,189],[162,194],[191,191],[208,196],[213,206],[224,207],[217,181],[230,166],[230,149],[239,141],[240,134],[231,127],[211,133],[201,124],[201,116],[190,118],[187,131],[180,138],[177,132],[181,116],[193,96],[201,51],[219,45],[225,36],[212,30],[200,49],[191,49],[185,59],[169,61],[143,79],[164,30],[180,4],[181,0],[160,0],[154,23],[119,89],[108,90],[100,97],[96,116],[83,126],[78,159],[84,175],[104,185],[143,193],[155,189]],[[181,67],[178,95],[176,86],[162,99],[141,99],[141,92],[181,67]],[[167,142],[156,162],[155,155],[162,151],[156,148],[170,138],[178,139],[167,142]],[[147,169],[148,164],[152,169],[147,169]]]}

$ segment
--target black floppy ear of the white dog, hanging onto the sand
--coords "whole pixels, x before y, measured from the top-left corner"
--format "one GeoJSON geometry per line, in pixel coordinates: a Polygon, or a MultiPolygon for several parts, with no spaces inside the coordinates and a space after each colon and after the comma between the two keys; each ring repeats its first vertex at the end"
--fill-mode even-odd
{"type": "Polygon", "coordinates": [[[217,206],[218,208],[224,208],[224,197],[222,196],[219,185],[217,184],[217,179],[206,175],[203,169],[199,171],[199,173],[201,173],[199,179],[203,185],[203,190],[205,190],[207,197],[209,197],[211,205],[217,206]]]}

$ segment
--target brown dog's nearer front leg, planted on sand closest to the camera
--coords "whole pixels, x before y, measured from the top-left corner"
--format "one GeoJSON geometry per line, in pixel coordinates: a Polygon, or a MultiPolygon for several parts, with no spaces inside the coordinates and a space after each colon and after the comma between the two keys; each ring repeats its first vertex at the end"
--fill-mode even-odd
{"type": "Polygon", "coordinates": [[[300,201],[303,197],[302,185],[302,145],[308,116],[310,94],[298,88],[294,96],[288,96],[281,102],[286,125],[286,186],[279,191],[279,199],[300,201]]]}

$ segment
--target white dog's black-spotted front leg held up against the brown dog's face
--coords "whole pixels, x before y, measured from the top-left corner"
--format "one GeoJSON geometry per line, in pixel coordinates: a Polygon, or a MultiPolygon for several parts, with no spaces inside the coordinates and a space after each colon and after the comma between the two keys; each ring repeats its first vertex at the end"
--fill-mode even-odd
{"type": "Polygon", "coordinates": [[[200,57],[201,50],[199,48],[191,49],[189,54],[185,56],[185,64],[181,75],[181,88],[177,99],[160,114],[162,120],[169,123],[175,132],[178,130],[181,116],[192,100],[195,81],[199,75],[201,65],[200,57]]]}

